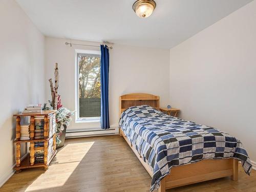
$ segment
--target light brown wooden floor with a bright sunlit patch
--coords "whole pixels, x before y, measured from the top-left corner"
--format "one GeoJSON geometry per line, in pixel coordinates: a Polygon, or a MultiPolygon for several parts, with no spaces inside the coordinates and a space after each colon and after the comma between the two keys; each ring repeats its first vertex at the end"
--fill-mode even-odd
{"type": "MultiPolygon", "coordinates": [[[[120,136],[67,139],[47,171],[14,174],[0,191],[148,192],[151,177],[120,136]],[[51,189],[51,190],[49,190],[51,189]]],[[[256,171],[169,189],[167,192],[256,192],[256,171]]]]}

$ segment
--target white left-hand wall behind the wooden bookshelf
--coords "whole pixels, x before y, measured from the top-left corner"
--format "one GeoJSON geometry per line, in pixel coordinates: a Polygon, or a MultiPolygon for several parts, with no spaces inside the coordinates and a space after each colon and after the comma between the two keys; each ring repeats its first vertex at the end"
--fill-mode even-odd
{"type": "Polygon", "coordinates": [[[44,36],[15,1],[1,0],[0,24],[1,186],[11,176],[15,163],[13,114],[28,103],[45,101],[45,70],[44,36]]]}

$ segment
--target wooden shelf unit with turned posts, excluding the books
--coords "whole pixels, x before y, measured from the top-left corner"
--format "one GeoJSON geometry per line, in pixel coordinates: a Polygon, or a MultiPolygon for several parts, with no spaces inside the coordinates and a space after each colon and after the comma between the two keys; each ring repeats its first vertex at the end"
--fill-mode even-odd
{"type": "Polygon", "coordinates": [[[16,144],[16,166],[14,169],[16,173],[21,172],[25,168],[33,167],[44,167],[48,169],[48,166],[56,155],[56,111],[42,111],[41,113],[23,113],[16,114],[16,139],[14,143],[16,144]],[[30,129],[29,137],[30,139],[21,140],[20,139],[20,117],[30,116],[30,129]],[[34,139],[35,136],[35,116],[44,116],[44,135],[43,138],[34,139]],[[20,143],[30,143],[29,153],[26,157],[20,159],[20,143]],[[44,146],[35,147],[36,142],[44,142],[44,146]],[[44,151],[44,162],[35,163],[35,152],[38,150],[44,151]]]}

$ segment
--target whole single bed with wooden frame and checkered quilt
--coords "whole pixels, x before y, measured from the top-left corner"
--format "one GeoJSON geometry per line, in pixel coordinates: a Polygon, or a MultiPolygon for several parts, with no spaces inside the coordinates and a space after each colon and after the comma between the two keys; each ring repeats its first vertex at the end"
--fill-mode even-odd
{"type": "Polygon", "coordinates": [[[120,96],[119,132],[152,177],[151,191],[227,176],[236,181],[238,161],[250,174],[250,159],[238,139],[158,109],[159,96],[120,96]]]}

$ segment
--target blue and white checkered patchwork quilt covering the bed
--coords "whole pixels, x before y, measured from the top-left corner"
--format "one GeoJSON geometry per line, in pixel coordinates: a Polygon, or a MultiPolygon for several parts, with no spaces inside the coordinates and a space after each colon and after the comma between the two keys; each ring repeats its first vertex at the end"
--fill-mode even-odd
{"type": "Polygon", "coordinates": [[[202,159],[238,159],[250,174],[252,165],[241,141],[214,127],[168,116],[147,105],[125,110],[119,125],[152,168],[151,191],[173,166],[202,159]]]}

